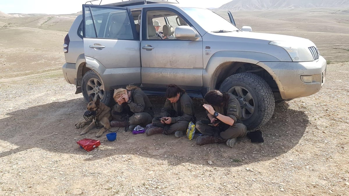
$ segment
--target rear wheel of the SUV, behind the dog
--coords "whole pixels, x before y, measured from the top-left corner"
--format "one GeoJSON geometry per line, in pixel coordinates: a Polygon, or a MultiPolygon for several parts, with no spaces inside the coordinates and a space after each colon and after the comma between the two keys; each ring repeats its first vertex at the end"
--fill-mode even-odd
{"type": "Polygon", "coordinates": [[[101,102],[108,106],[114,103],[114,91],[105,91],[101,78],[93,70],[87,71],[82,77],[81,90],[87,102],[91,96],[94,100],[101,99],[101,102]]]}

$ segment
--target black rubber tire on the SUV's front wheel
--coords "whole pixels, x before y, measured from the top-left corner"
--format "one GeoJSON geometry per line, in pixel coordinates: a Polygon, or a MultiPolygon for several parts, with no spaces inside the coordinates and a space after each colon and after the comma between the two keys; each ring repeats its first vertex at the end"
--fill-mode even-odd
{"type": "MultiPolygon", "coordinates": [[[[235,91],[235,88],[243,88],[253,99],[254,112],[247,119],[242,119],[248,130],[257,129],[272,118],[275,108],[274,95],[263,78],[252,73],[234,74],[223,81],[220,91],[231,92],[235,91]]],[[[242,101],[239,101],[240,108],[244,107],[242,101]]]]}

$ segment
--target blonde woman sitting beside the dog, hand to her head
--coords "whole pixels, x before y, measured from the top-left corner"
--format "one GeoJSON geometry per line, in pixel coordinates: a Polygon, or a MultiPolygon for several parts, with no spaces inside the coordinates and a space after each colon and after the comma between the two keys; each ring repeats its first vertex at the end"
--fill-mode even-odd
{"type": "Polygon", "coordinates": [[[133,130],[137,125],[145,127],[154,118],[152,105],[147,95],[137,86],[128,85],[126,89],[120,88],[113,95],[116,104],[112,110],[112,127],[126,127],[133,130]],[[125,115],[129,118],[123,118],[125,115]]]}

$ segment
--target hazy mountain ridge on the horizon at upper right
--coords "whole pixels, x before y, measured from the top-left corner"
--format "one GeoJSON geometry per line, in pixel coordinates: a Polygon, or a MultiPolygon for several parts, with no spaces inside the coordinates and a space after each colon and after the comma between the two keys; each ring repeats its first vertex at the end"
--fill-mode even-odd
{"type": "Polygon", "coordinates": [[[349,7],[349,0],[233,0],[217,9],[262,10],[314,7],[349,7]]]}

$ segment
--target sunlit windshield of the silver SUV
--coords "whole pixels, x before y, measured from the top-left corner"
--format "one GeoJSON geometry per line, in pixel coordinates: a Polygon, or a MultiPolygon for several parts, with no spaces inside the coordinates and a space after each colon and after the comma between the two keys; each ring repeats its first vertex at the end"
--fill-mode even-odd
{"type": "MultiPolygon", "coordinates": [[[[202,8],[182,8],[195,22],[208,32],[224,30],[236,31],[239,30],[222,16],[202,8]]],[[[221,31],[222,32],[222,31],[221,31]]]]}

